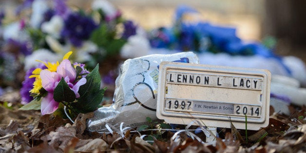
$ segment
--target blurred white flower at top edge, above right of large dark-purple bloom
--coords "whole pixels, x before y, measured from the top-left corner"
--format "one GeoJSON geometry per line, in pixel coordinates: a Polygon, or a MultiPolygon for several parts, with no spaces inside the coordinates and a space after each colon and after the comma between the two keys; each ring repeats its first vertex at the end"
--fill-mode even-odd
{"type": "Polygon", "coordinates": [[[115,17],[117,14],[117,9],[114,7],[112,3],[107,0],[95,0],[92,3],[92,9],[102,9],[102,11],[109,17],[115,17]]]}

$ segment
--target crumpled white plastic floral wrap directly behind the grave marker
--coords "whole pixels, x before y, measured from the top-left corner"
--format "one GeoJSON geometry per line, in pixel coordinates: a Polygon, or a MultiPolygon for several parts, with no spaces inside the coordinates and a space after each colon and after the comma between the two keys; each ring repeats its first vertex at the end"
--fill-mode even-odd
{"type": "Polygon", "coordinates": [[[87,120],[87,129],[108,132],[106,123],[119,129],[121,122],[135,128],[148,124],[146,117],[157,120],[158,68],[162,61],[199,62],[192,52],[149,55],[126,60],[115,82],[115,102],[110,107],[96,110],[94,117],[87,120]]]}

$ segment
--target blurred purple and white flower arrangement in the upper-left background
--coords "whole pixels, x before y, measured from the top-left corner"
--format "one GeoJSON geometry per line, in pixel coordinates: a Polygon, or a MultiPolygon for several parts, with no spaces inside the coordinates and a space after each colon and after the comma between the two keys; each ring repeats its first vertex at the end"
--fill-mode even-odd
{"type": "Polygon", "coordinates": [[[70,7],[66,0],[24,0],[12,20],[0,10],[1,87],[19,88],[23,68],[37,67],[35,59],[58,61],[69,50],[74,52],[71,59],[92,70],[97,63],[117,57],[137,29],[106,0],[94,0],[87,10],[70,7]]]}

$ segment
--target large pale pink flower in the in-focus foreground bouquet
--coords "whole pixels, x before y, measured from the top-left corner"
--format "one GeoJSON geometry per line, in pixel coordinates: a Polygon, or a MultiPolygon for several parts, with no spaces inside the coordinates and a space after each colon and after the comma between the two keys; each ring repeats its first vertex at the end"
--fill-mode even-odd
{"type": "Polygon", "coordinates": [[[76,98],[80,96],[77,92],[79,87],[86,83],[86,78],[83,77],[79,81],[74,82],[76,80],[76,70],[72,67],[68,59],[64,59],[57,66],[57,72],[41,70],[40,78],[42,87],[49,92],[48,95],[41,100],[41,115],[51,114],[57,110],[59,103],[53,99],[53,93],[62,77],[64,77],[70,89],[74,91],[76,98]]]}

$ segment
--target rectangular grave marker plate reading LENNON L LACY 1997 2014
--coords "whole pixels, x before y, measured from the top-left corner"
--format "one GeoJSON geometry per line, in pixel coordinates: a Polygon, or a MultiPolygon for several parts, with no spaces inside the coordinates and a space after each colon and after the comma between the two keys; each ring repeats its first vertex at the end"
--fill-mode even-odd
{"type": "Polygon", "coordinates": [[[159,68],[157,117],[168,123],[259,130],[268,126],[268,70],[162,62],[159,68]],[[203,125],[204,125],[203,124],[203,125]]]}

